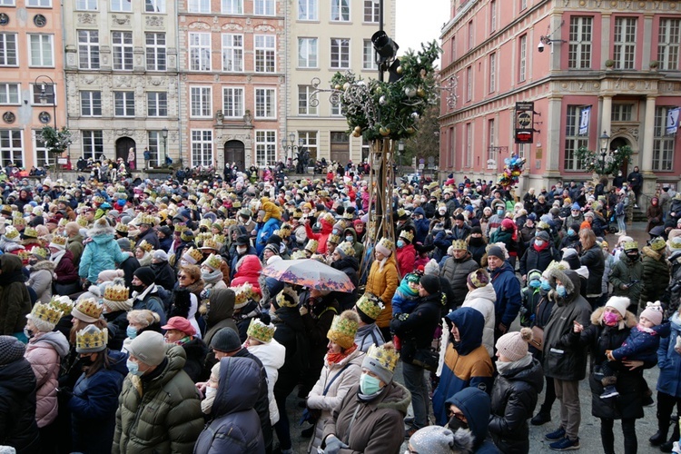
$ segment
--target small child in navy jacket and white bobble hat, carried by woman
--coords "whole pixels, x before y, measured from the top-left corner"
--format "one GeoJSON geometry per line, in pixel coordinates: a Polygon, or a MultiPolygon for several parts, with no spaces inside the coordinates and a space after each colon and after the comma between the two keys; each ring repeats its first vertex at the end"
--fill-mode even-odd
{"type": "Polygon", "coordinates": [[[641,312],[638,324],[631,329],[627,340],[616,350],[606,350],[608,362],[601,367],[603,380],[601,383],[605,387],[601,399],[608,399],[619,395],[615,385],[617,376],[609,367],[610,361],[618,360],[643,360],[656,362],[657,347],[660,345],[660,337],[666,337],[671,332],[671,327],[667,321],[662,323],[662,305],[660,301],[648,302],[646,309],[641,312]]]}

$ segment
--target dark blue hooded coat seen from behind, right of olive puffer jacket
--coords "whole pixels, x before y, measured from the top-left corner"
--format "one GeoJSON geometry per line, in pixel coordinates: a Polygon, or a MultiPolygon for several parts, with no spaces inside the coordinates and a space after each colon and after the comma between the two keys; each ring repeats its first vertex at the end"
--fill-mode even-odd
{"type": "Polygon", "coordinates": [[[253,410],[260,393],[259,374],[258,365],[247,358],[220,360],[213,419],[196,440],[194,454],[264,454],[260,419],[253,410]]]}

